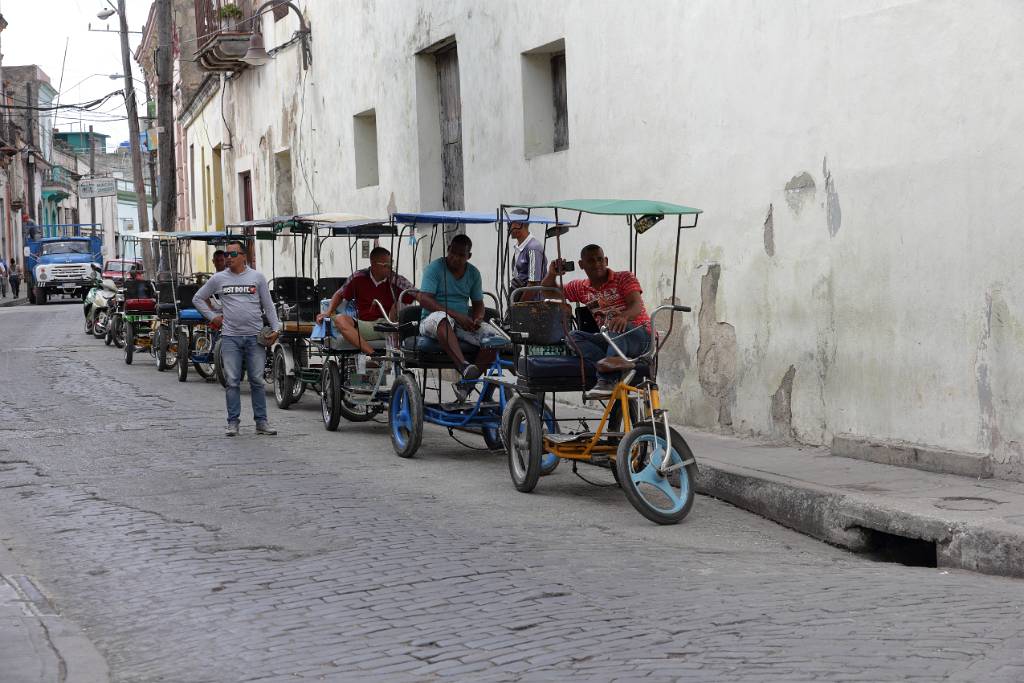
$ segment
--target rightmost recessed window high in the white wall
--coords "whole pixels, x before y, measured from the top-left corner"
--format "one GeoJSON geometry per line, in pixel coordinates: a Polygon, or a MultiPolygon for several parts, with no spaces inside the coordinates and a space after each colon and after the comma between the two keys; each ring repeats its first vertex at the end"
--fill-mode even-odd
{"type": "Polygon", "coordinates": [[[564,40],[522,53],[522,114],[527,159],[568,150],[564,40]]]}

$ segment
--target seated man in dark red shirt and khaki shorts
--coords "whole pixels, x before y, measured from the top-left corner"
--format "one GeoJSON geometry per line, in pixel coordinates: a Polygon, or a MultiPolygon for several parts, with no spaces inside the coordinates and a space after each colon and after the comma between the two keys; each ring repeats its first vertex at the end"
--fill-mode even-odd
{"type": "MultiPolygon", "coordinates": [[[[402,292],[412,287],[408,280],[391,269],[391,252],[384,247],[376,247],[370,252],[370,267],[352,273],[351,278],[331,297],[327,312],[316,315],[316,322],[319,323],[325,317],[334,319],[335,328],[345,341],[367,355],[373,355],[375,351],[370,342],[384,339],[384,334],[377,332],[374,326],[385,322],[375,301],[380,301],[388,315],[393,317],[395,301],[402,292]],[[342,301],[351,301],[355,304],[355,318],[345,313],[335,315],[342,301]]],[[[406,299],[409,303],[413,297],[407,296],[406,299]]],[[[372,368],[379,367],[374,360],[368,365],[372,368]]]]}

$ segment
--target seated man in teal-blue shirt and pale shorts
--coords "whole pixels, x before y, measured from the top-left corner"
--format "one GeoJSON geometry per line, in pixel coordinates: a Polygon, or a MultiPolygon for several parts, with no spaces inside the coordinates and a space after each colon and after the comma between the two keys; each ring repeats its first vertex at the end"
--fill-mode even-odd
{"type": "Polygon", "coordinates": [[[459,340],[480,347],[487,333],[483,322],[483,279],[469,263],[473,242],[465,234],[452,238],[447,255],[430,262],[423,271],[420,304],[424,315],[420,334],[436,339],[455,364],[463,379],[475,380],[494,362],[497,352],[480,348],[476,362],[466,360],[459,340]]]}

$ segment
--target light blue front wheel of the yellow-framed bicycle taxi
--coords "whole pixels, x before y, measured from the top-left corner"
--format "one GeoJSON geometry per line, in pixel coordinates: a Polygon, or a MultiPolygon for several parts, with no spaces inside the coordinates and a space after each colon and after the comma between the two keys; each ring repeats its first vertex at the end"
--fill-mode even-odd
{"type": "Polygon", "coordinates": [[[669,434],[672,454],[668,471],[660,469],[668,445],[664,425],[634,427],[615,454],[617,479],[626,498],[637,512],[658,524],[675,524],[689,513],[697,473],[690,446],[675,429],[669,434]]]}

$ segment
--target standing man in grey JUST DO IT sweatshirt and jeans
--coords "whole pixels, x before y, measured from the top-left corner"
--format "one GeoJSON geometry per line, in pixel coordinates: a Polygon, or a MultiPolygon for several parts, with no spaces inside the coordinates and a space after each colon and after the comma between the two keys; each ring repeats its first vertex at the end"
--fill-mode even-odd
{"type": "Polygon", "coordinates": [[[226,245],[227,268],[214,273],[193,297],[193,305],[203,313],[214,329],[221,329],[221,359],[227,380],[227,436],[238,436],[242,416],[242,367],[249,376],[250,399],[257,434],[276,434],[266,416],[266,393],[263,388],[263,368],[266,349],[278,340],[281,321],[270,299],[263,273],[246,263],[246,248],[242,242],[226,245]],[[214,311],[207,302],[211,296],[220,300],[221,310],[214,311]],[[264,316],[269,331],[264,329],[264,316]]]}

